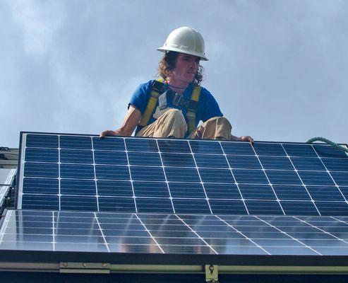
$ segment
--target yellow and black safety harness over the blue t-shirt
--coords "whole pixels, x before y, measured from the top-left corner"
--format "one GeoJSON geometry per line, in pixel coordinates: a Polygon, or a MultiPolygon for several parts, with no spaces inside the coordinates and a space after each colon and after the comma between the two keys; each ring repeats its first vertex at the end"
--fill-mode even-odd
{"type": "MultiPolygon", "coordinates": [[[[195,86],[193,88],[193,91],[191,93],[191,99],[188,102],[182,101],[182,97],[178,96],[178,93],[172,94],[170,91],[166,91],[165,84],[163,83],[163,79],[157,79],[153,81],[151,86],[151,93],[150,93],[150,99],[148,101],[148,105],[146,105],[145,112],[143,114],[143,117],[140,120],[139,125],[141,127],[145,127],[148,125],[150,121],[150,117],[155,110],[155,107],[157,105],[157,101],[162,95],[162,93],[166,93],[167,96],[173,99],[174,105],[180,104],[184,108],[186,108],[186,119],[188,121],[188,134],[191,134],[196,129],[196,113],[198,110],[198,100],[200,97],[200,86],[195,86]]],[[[162,103],[163,105],[164,103],[162,103]]],[[[167,105],[162,106],[163,108],[166,108],[167,105]]]]}

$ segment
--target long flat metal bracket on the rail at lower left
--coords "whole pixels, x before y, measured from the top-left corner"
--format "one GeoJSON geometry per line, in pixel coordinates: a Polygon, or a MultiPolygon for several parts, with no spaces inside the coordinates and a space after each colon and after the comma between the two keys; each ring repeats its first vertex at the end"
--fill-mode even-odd
{"type": "Polygon", "coordinates": [[[109,263],[99,262],[61,262],[61,273],[110,273],[109,263]]]}

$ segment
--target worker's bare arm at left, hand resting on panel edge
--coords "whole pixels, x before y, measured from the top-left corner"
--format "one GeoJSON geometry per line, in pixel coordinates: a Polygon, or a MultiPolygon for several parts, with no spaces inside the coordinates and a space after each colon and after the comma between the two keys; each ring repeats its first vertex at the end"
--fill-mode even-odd
{"type": "Polygon", "coordinates": [[[125,136],[130,137],[131,134],[136,129],[138,122],[141,117],[141,112],[135,108],[133,105],[129,105],[128,112],[126,117],[124,117],[124,122],[122,123],[119,129],[111,130],[107,129],[106,131],[100,134],[100,137],[106,136],[125,136]]]}

